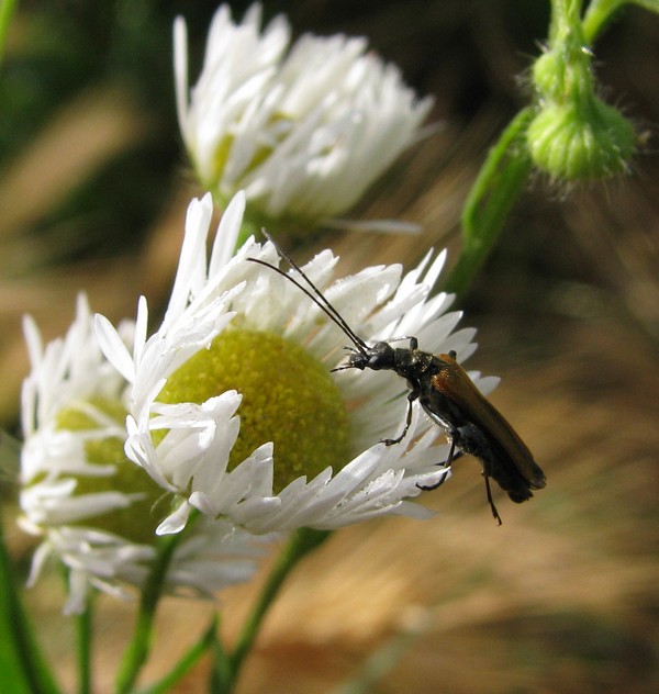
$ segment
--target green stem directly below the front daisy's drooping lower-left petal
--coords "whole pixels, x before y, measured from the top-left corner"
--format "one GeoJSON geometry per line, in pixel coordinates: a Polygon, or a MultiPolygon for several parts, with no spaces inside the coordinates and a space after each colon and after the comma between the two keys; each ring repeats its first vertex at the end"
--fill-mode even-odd
{"type": "Polygon", "coordinates": [[[165,589],[167,571],[181,536],[182,534],[178,533],[161,537],[156,545],[157,555],[142,591],[133,639],[120,665],[116,679],[119,694],[125,694],[132,690],[150,651],[156,607],[165,589]]]}

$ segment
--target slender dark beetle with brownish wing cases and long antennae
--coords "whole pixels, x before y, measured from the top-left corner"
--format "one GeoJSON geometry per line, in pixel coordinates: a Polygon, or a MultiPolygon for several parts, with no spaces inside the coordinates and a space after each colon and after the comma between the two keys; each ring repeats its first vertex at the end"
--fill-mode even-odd
{"type": "Polygon", "coordinates": [[[499,525],[501,525],[501,516],[492,499],[490,478],[516,503],[530,499],[532,490],[545,486],[545,473],[535,462],[532,452],[503,415],[478,390],[469,374],[458,363],[455,351],[440,355],[422,351],[418,349],[416,337],[399,338],[410,340],[410,346],[406,348],[392,347],[387,342],[378,342],[373,346],[367,345],[294,260],[265,230],[264,234],[275,245],[280,257],[304,280],[309,289],[265,260],[256,258],[248,258],[248,260],[286,277],[351,340],[354,347],[346,347],[350,351],[347,361],[333,370],[389,370],[407,381],[410,393],[405,425],[399,436],[383,439],[383,444],[393,446],[403,440],[412,423],[412,405],[415,400],[418,400],[426,414],[445,430],[450,441],[448,457],[444,462],[446,467],[461,454],[469,454],[482,462],[488,503],[499,525]]]}

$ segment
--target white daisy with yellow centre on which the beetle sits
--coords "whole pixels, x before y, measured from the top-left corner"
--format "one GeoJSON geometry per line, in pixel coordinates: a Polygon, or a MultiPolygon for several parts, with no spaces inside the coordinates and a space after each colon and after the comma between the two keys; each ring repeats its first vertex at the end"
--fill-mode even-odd
{"type": "MultiPolygon", "coordinates": [[[[231,257],[244,205],[242,194],[231,202],[206,261],[212,202],[192,201],[165,320],[147,339],[141,301],[133,354],[98,317],[102,349],[132,384],[126,454],[178,499],[158,531],[180,530],[193,507],[254,533],[427,517],[409,500],[448,475],[443,432],[415,405],[405,439],[378,443],[402,428],[404,380],[330,373],[346,337],[286,278],[249,261],[277,264],[273,246],[249,239],[231,257]]],[[[379,266],[330,283],[336,258],[325,250],[303,269],[365,340],[416,335],[462,361],[474,331],[453,332],[451,298],[428,298],[444,259],[428,254],[402,279],[400,266],[379,266]]],[[[484,392],[496,381],[471,377],[484,392]]]]}

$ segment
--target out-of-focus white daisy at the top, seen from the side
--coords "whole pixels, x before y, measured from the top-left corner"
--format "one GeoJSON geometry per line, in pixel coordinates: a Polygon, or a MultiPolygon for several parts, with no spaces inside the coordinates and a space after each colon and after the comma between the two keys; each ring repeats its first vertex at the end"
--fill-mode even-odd
{"type": "Polygon", "coordinates": [[[432,100],[417,100],[399,69],[365,38],[305,34],[261,7],[243,22],[220,7],[203,69],[188,88],[186,24],[175,23],[181,133],[206,189],[271,217],[322,221],[349,209],[411,143],[432,100]]]}

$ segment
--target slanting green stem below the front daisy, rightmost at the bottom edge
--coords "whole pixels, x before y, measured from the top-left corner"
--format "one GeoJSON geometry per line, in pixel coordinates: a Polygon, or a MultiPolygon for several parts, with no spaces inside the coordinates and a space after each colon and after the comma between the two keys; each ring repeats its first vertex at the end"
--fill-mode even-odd
{"type": "Polygon", "coordinates": [[[306,555],[324,542],[330,535],[328,530],[301,528],[291,536],[288,545],[277,558],[277,562],[272,567],[272,571],[258,596],[252,614],[243,627],[233,653],[228,657],[230,667],[223,675],[224,681],[217,683],[217,694],[230,694],[233,691],[241,667],[254,646],[264,617],[289,573],[306,555]]]}

